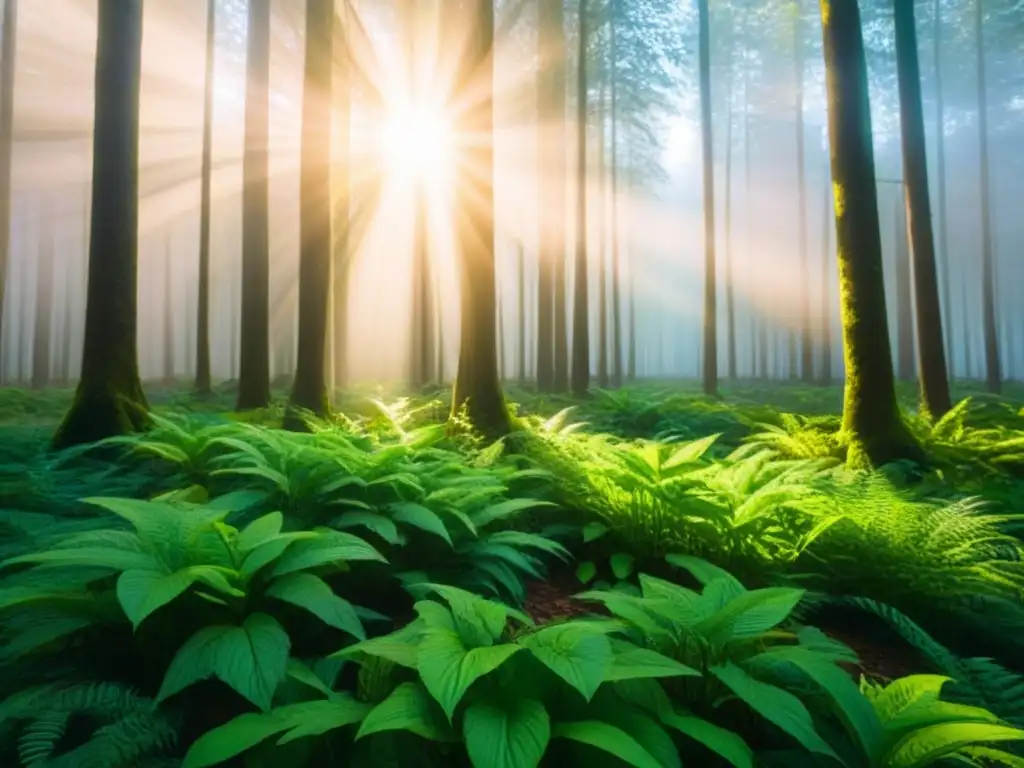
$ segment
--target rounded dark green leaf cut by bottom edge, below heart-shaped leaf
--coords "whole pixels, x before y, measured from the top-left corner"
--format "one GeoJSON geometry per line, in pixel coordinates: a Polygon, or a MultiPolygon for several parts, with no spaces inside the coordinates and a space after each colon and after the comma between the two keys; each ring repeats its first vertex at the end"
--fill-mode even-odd
{"type": "Polygon", "coordinates": [[[462,731],[474,766],[537,768],[551,740],[551,719],[532,698],[477,701],[466,709],[462,731]]]}

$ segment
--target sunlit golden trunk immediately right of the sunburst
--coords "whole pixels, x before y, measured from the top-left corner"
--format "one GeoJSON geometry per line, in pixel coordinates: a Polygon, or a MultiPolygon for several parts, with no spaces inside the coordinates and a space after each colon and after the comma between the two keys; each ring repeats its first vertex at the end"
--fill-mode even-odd
{"type": "MultiPolygon", "coordinates": [[[[494,47],[490,0],[469,3],[473,31],[460,62],[455,98],[472,93],[458,126],[460,205],[458,230],[461,340],[452,392],[452,416],[463,409],[481,433],[498,437],[511,428],[498,376],[495,285],[494,47]]],[[[445,24],[451,24],[446,22],[445,24]]]]}

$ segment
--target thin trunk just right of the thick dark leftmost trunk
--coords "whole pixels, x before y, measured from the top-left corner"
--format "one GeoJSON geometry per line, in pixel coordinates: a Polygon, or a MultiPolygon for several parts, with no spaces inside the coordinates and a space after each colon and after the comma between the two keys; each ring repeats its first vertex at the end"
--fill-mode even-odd
{"type": "Polygon", "coordinates": [[[200,171],[199,303],[196,315],[196,393],[213,391],[210,372],[210,175],[213,159],[213,78],[216,58],[216,0],[206,2],[206,93],[203,97],[203,165],[200,171]]]}

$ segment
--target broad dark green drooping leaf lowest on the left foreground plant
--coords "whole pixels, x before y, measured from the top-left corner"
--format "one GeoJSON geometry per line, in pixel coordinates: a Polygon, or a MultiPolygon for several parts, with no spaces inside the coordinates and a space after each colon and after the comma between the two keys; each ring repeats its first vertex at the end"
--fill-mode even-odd
{"type": "Polygon", "coordinates": [[[288,633],[266,613],[253,613],[241,627],[200,630],[174,655],[157,700],[216,677],[267,711],[287,672],[290,646],[288,633]]]}

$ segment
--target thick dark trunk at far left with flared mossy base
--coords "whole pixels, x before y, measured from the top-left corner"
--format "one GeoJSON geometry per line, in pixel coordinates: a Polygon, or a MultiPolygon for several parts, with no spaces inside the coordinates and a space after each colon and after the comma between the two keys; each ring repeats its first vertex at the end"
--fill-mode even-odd
{"type": "Polygon", "coordinates": [[[92,224],[82,375],[56,449],[142,429],[138,376],[138,113],[142,2],[99,3],[92,224]]]}

